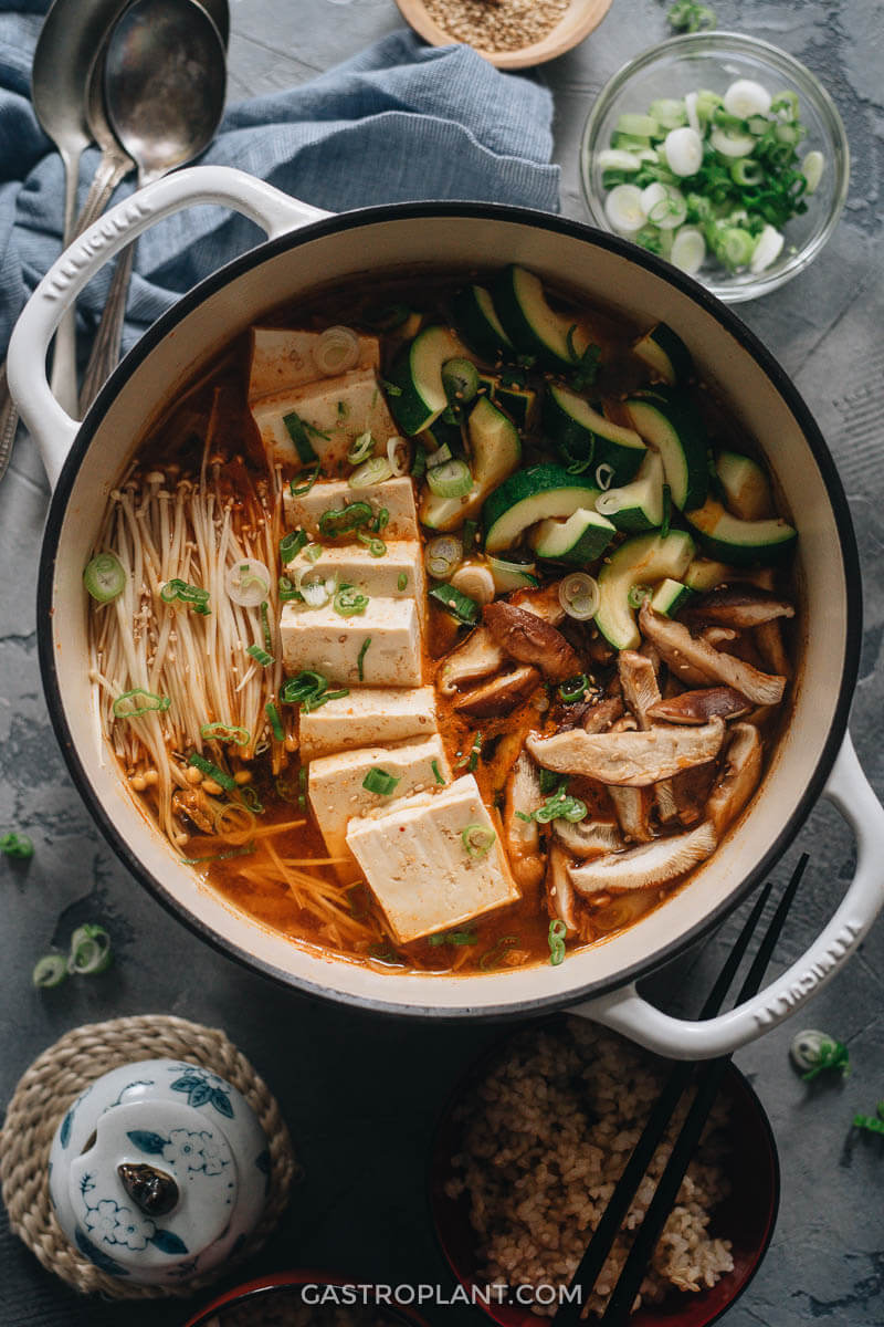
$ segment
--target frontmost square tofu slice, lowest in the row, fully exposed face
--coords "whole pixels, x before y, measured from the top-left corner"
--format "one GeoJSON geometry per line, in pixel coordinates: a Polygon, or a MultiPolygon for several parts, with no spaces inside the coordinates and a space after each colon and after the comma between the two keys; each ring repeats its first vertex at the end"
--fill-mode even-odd
{"type": "Polygon", "coordinates": [[[437,794],[417,792],[390,811],[351,820],[346,839],[400,945],[520,897],[472,774],[437,794]],[[481,859],[467,852],[461,837],[473,824],[494,833],[481,859]]]}

